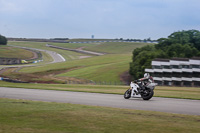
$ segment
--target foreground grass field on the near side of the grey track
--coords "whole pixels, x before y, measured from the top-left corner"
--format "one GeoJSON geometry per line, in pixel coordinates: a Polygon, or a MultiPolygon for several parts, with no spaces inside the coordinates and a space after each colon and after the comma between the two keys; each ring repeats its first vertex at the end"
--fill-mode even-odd
{"type": "Polygon", "coordinates": [[[200,116],[0,98],[1,133],[199,133],[200,116]]]}

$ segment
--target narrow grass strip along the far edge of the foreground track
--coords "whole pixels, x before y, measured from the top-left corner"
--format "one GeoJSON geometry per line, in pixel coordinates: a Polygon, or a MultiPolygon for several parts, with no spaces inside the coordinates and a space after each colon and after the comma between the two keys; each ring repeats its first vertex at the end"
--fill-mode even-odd
{"type": "MultiPolygon", "coordinates": [[[[0,81],[1,87],[16,87],[28,89],[46,89],[60,91],[92,92],[106,94],[124,94],[129,86],[113,85],[82,85],[82,84],[27,84],[27,83],[8,83],[0,81]]],[[[156,97],[169,97],[181,99],[200,100],[200,88],[195,87],[164,87],[157,86],[154,90],[156,97]]]]}

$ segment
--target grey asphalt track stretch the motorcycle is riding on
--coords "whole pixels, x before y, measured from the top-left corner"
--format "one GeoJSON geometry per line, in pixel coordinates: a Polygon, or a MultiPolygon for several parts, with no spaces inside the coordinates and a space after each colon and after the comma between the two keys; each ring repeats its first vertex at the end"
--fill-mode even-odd
{"type": "Polygon", "coordinates": [[[200,100],[153,97],[124,99],[123,95],[0,87],[0,98],[84,104],[135,110],[200,115],[200,100]]]}

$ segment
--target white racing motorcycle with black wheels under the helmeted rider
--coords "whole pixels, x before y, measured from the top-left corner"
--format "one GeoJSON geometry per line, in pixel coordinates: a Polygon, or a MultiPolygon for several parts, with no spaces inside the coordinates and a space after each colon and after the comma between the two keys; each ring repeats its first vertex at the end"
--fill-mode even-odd
{"type": "Polygon", "coordinates": [[[134,81],[130,83],[130,89],[128,89],[124,93],[124,98],[129,99],[131,97],[141,97],[143,100],[149,100],[154,95],[154,88],[157,83],[147,82],[144,83],[142,81],[134,81]]]}

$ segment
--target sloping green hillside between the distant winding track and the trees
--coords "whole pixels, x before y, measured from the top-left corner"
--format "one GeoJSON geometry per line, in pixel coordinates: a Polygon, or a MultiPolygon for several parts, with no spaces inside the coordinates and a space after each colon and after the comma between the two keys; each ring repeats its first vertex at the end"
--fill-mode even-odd
{"type": "MultiPolygon", "coordinates": [[[[97,82],[97,83],[120,83],[122,77],[129,70],[132,51],[137,47],[149,45],[145,43],[98,43],[98,44],[76,44],[76,43],[51,43],[51,45],[66,48],[83,48],[91,51],[106,52],[103,56],[90,56],[80,59],[85,54],[75,53],[61,49],[46,47],[46,43],[37,42],[9,42],[9,44],[35,47],[56,51],[67,59],[66,62],[48,64],[42,66],[23,68],[16,73],[4,73],[8,77],[19,78],[23,81],[66,83],[66,82],[97,82]],[[26,78],[24,78],[26,77],[26,78]]],[[[151,44],[152,45],[152,44],[151,44]]],[[[127,75],[125,75],[126,77],[127,75]]]]}

